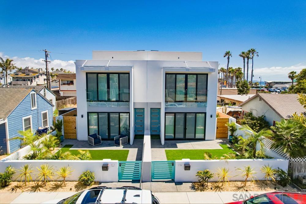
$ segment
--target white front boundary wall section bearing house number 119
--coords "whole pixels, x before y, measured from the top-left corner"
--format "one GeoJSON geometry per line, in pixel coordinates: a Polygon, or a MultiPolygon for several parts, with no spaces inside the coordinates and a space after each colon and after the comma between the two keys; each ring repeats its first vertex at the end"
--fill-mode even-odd
{"type": "MultiPolygon", "coordinates": [[[[260,172],[260,168],[264,165],[270,165],[272,168],[278,167],[287,171],[288,160],[284,159],[231,159],[227,161],[220,160],[176,160],[175,161],[175,182],[195,182],[198,181],[196,176],[197,171],[209,169],[212,173],[216,173],[218,168],[225,167],[230,169],[230,181],[242,181],[245,178],[241,176],[241,172],[237,168],[244,169],[245,166],[250,165],[256,171],[256,180],[264,180],[264,174],[260,172]],[[184,170],[184,164],[190,164],[190,171],[184,170]]],[[[210,181],[217,181],[218,176],[214,175],[210,181]]]]}

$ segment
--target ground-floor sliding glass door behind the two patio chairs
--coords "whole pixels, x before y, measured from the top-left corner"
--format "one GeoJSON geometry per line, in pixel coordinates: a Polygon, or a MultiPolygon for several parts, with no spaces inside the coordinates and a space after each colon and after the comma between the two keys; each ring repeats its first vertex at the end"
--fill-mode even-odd
{"type": "Polygon", "coordinates": [[[88,134],[96,133],[101,139],[113,140],[128,127],[129,113],[88,113],[88,134]]]}

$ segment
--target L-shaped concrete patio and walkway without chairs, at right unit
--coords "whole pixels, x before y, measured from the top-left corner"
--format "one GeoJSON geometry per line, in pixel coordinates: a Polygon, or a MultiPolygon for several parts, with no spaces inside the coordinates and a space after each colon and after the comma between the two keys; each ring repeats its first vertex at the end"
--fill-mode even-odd
{"type": "Polygon", "coordinates": [[[165,150],[202,150],[202,149],[222,149],[219,143],[222,140],[166,140],[161,145],[159,139],[151,139],[152,161],[166,161],[165,150]]]}

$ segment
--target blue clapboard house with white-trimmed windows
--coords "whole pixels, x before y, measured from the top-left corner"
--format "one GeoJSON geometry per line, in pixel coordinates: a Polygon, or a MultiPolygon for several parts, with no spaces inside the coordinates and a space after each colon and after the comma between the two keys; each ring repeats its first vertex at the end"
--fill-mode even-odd
{"type": "Polygon", "coordinates": [[[0,154],[20,149],[19,130],[53,125],[53,104],[35,88],[0,88],[0,154]]]}

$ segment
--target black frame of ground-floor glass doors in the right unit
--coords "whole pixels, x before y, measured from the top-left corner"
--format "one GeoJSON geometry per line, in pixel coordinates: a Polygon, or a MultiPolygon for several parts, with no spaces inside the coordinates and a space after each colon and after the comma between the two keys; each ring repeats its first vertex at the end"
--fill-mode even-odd
{"type": "Polygon", "coordinates": [[[164,124],[164,139],[165,140],[205,140],[206,138],[206,117],[207,114],[206,112],[166,112],[165,113],[165,124],[164,124]],[[173,130],[173,139],[169,139],[166,138],[166,114],[174,114],[174,130],[173,130]],[[177,113],[184,113],[184,137],[183,138],[179,138],[179,139],[175,139],[175,124],[176,124],[176,114],[177,113]],[[194,120],[194,138],[186,138],[186,117],[187,117],[187,113],[195,113],[195,120],[194,120]],[[196,114],[197,113],[204,113],[204,138],[196,138],[196,114]]]}

